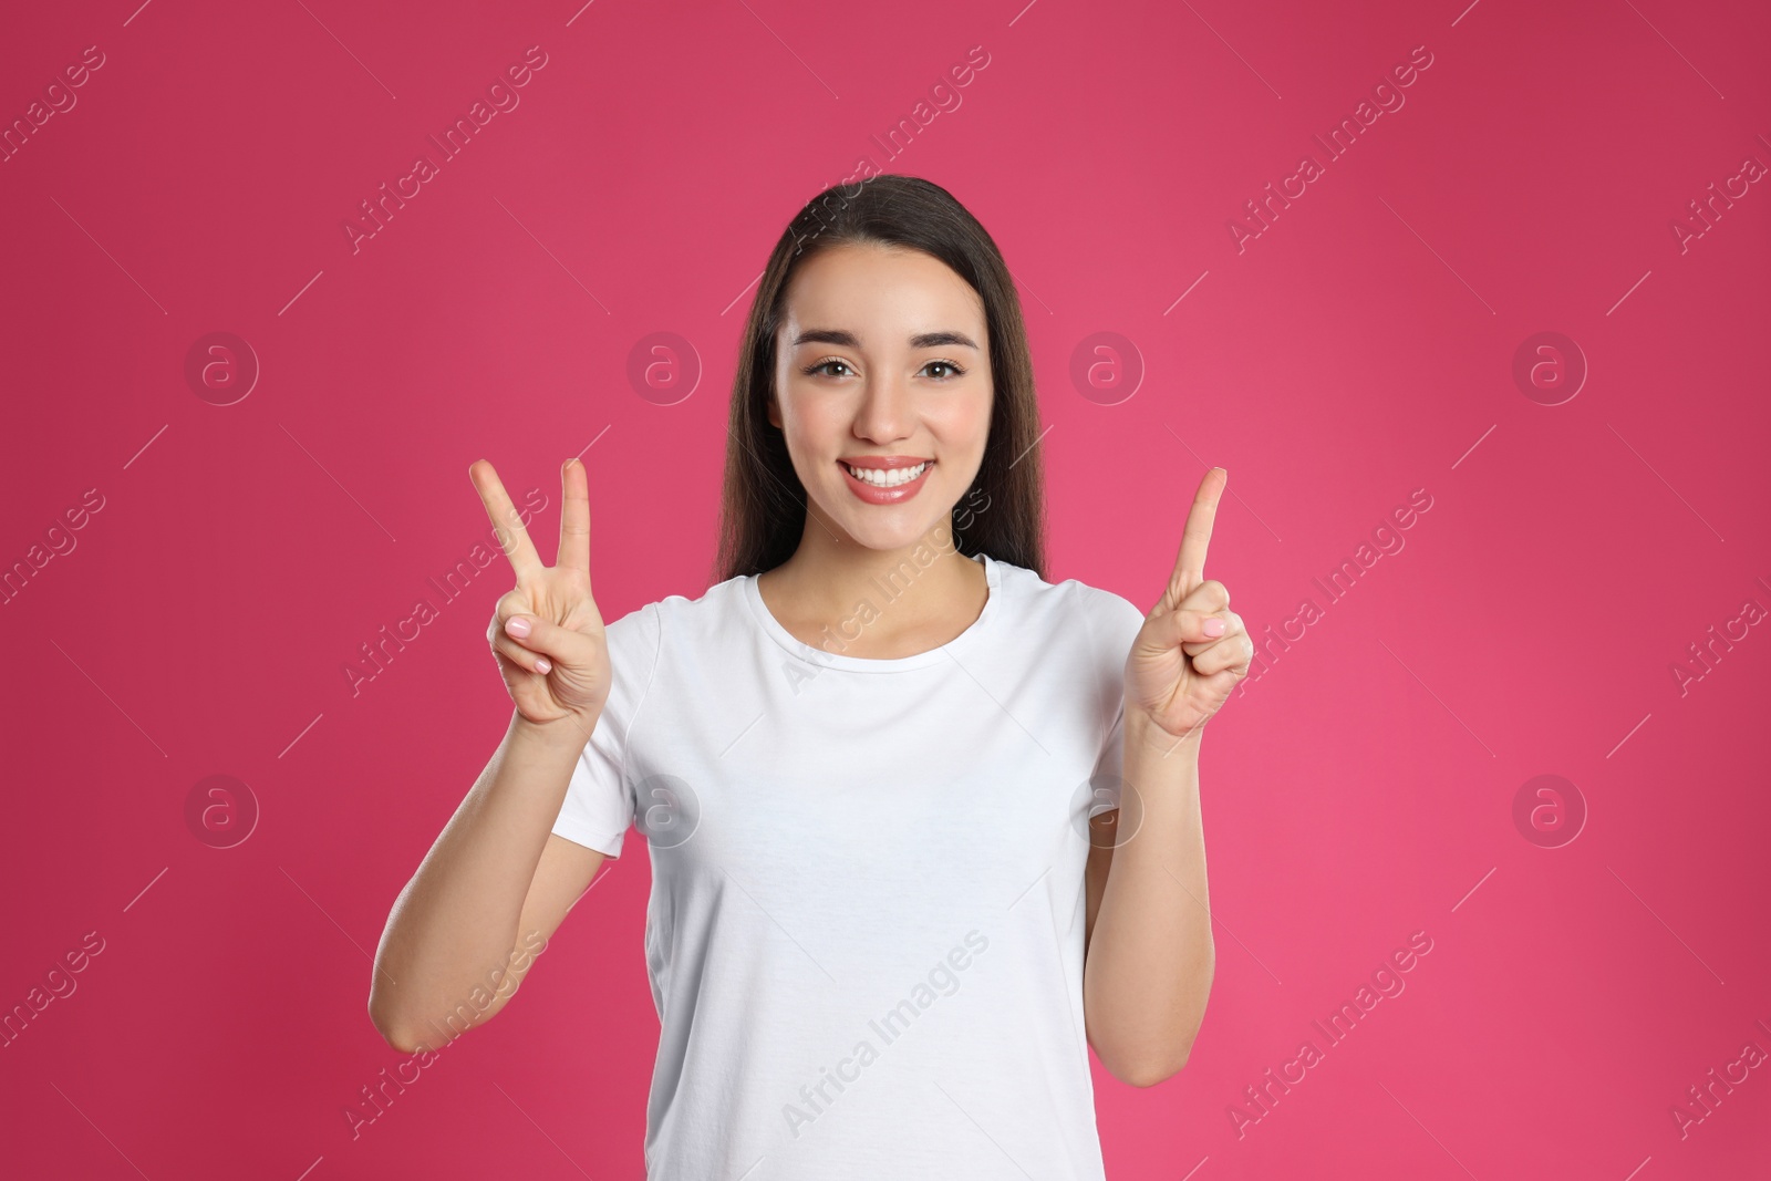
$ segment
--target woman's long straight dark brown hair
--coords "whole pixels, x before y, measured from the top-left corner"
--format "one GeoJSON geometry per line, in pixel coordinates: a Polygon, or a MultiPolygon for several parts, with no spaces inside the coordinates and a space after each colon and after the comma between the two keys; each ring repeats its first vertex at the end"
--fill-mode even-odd
{"type": "Polygon", "coordinates": [[[965,556],[988,554],[1043,579],[1040,404],[1015,280],[995,241],[947,189],[921,177],[886,174],[813,197],[769,255],[731,379],[714,581],[772,570],[799,547],[806,489],[793,471],[785,436],[769,421],[776,335],[793,274],[818,251],[845,243],[921,250],[947,264],[983,297],[995,386],[990,437],[972,489],[953,508],[953,540],[965,556]]]}

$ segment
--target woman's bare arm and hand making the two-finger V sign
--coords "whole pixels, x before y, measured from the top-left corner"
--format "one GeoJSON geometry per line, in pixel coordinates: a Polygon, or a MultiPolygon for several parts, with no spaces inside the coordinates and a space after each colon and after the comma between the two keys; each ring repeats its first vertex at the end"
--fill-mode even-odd
{"type": "Polygon", "coordinates": [[[400,891],[375,949],[368,1016],[402,1052],[494,1016],[583,896],[604,855],[553,834],[572,765],[609,694],[590,595],[584,467],[561,471],[560,554],[544,567],[485,460],[469,467],[517,574],[487,639],[515,703],[491,761],[400,891]]]}

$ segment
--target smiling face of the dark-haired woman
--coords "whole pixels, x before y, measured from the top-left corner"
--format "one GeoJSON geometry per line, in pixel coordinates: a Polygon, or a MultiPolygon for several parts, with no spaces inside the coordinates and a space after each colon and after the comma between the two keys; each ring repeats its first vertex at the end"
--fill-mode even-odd
{"type": "Polygon", "coordinates": [[[769,421],[808,513],[868,549],[916,545],[951,519],[983,464],[994,390],[983,299],[917,250],[843,244],[800,266],[785,306],[769,421]],[[896,483],[905,475],[916,478],[896,483]]]}

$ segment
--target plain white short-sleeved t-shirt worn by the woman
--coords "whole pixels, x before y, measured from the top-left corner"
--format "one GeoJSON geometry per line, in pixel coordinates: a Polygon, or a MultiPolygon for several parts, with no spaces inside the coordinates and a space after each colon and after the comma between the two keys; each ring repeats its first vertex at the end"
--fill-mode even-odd
{"type": "Polygon", "coordinates": [[[607,625],[553,830],[650,845],[653,1181],[1105,1176],[1086,822],[1119,799],[1144,613],[983,563],[983,614],[893,660],[839,653],[868,609],[795,639],[754,575],[607,625]]]}

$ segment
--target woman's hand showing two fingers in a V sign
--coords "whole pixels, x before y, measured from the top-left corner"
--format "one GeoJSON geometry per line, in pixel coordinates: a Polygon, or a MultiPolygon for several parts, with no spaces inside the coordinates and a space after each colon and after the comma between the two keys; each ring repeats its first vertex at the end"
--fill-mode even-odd
{"type": "Polygon", "coordinates": [[[492,611],[485,639],[517,712],[530,722],[574,719],[590,735],[609,698],[609,645],[590,597],[590,492],[584,464],[560,469],[560,552],[544,567],[505,485],[489,462],[468,467],[517,584],[492,611]]]}

